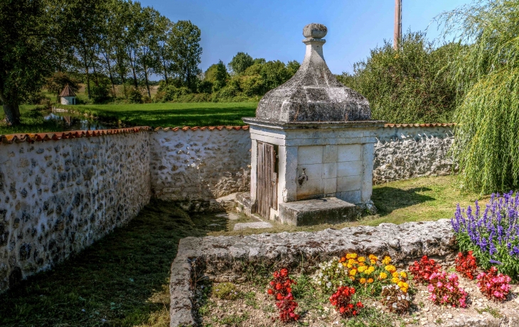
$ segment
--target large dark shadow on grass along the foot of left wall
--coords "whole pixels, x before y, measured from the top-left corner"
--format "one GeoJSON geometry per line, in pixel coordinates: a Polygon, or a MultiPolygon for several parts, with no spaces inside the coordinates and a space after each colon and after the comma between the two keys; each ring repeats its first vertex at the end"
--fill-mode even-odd
{"type": "Polygon", "coordinates": [[[124,228],[2,294],[0,326],[168,326],[178,241],[225,225],[152,200],[124,228]]]}

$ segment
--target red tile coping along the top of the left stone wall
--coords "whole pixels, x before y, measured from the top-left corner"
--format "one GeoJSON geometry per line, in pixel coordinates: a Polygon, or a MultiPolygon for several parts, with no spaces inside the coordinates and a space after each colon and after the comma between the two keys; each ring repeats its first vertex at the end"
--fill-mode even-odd
{"type": "Polygon", "coordinates": [[[21,142],[38,142],[45,140],[66,140],[69,138],[91,138],[93,136],[137,133],[140,131],[149,131],[147,126],[137,126],[130,128],[104,129],[98,131],[66,131],[66,132],[48,132],[48,133],[26,133],[26,134],[9,134],[0,135],[0,143],[21,143],[21,142]]]}

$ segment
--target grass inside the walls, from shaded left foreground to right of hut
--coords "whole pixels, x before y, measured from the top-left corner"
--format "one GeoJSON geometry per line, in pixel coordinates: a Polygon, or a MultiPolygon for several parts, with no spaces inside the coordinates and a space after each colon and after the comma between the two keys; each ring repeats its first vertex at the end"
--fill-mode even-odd
{"type": "Polygon", "coordinates": [[[169,268],[178,241],[187,236],[240,235],[403,223],[450,218],[460,194],[455,177],[425,177],[379,185],[380,213],[341,225],[235,232],[236,222],[214,214],[188,216],[164,201],[151,201],[128,226],[117,228],[79,255],[0,296],[0,326],[168,326],[169,268]],[[218,225],[215,225],[218,224],[218,225]]]}

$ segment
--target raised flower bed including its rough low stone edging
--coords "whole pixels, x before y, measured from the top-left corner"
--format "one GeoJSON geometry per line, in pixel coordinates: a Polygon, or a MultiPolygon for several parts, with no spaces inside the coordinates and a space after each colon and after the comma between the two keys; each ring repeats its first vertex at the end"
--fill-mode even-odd
{"type": "Polygon", "coordinates": [[[495,267],[479,267],[472,253],[454,252],[451,228],[439,221],[193,238],[193,248],[181,242],[186,259],[177,257],[184,263],[172,267],[171,325],[186,312],[177,309],[187,304],[178,290],[188,290],[178,276],[190,272],[197,287],[192,312],[203,325],[519,326],[517,285],[495,267]],[[409,260],[425,253],[442,260],[409,260]],[[212,291],[229,281],[239,290],[236,299],[212,291]]]}

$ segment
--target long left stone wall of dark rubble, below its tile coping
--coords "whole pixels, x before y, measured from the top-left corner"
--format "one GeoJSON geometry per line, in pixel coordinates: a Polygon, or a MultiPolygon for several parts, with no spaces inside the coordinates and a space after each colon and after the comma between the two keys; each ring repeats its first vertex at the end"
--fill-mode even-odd
{"type": "Polygon", "coordinates": [[[0,143],[0,292],[134,218],[149,152],[146,131],[0,143]]]}

